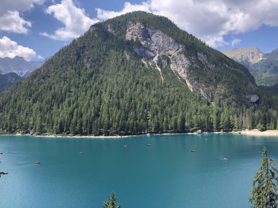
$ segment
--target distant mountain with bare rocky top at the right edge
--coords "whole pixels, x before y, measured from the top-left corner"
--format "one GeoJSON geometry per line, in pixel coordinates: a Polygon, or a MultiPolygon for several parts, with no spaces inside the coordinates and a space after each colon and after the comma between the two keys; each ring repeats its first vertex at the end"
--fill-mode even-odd
{"type": "Polygon", "coordinates": [[[222,53],[247,67],[257,85],[272,86],[278,83],[278,49],[272,53],[262,53],[255,47],[233,49],[222,53]]]}

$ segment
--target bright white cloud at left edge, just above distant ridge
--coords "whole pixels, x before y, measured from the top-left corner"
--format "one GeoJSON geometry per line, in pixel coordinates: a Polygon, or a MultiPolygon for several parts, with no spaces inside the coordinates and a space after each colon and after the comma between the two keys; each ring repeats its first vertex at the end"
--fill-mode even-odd
{"type": "Polygon", "coordinates": [[[33,51],[33,49],[19,46],[17,42],[10,40],[10,38],[6,36],[3,36],[0,39],[0,57],[14,58],[17,55],[23,57],[27,61],[30,61],[35,58],[36,53],[33,51]]]}

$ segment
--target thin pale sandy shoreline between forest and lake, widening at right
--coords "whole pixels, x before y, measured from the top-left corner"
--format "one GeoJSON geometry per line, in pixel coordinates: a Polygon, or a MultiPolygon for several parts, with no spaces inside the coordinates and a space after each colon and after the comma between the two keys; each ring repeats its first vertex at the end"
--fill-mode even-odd
{"type": "Polygon", "coordinates": [[[137,136],[149,136],[149,135],[204,135],[204,134],[226,134],[226,133],[231,133],[231,134],[237,134],[237,135],[246,135],[246,136],[261,136],[261,137],[278,137],[278,130],[265,130],[263,132],[253,129],[253,130],[241,130],[241,131],[231,131],[231,132],[223,132],[223,131],[218,131],[218,132],[202,132],[201,134],[198,134],[197,132],[189,132],[189,133],[162,133],[162,134],[142,134],[142,135],[124,135],[124,136],[80,136],[80,135],[22,135],[22,134],[3,134],[0,136],[32,136],[32,137],[65,137],[65,138],[89,138],[89,139],[113,139],[113,138],[126,138],[126,137],[137,137],[137,136]]]}

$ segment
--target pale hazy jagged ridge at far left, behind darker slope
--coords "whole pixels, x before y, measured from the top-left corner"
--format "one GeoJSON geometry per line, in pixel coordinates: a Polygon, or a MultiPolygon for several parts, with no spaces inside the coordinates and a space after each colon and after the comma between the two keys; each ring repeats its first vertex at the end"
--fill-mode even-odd
{"type": "Polygon", "coordinates": [[[26,61],[24,58],[15,56],[15,58],[0,58],[0,73],[17,73],[18,76],[26,78],[32,71],[42,66],[42,61],[26,61]]]}

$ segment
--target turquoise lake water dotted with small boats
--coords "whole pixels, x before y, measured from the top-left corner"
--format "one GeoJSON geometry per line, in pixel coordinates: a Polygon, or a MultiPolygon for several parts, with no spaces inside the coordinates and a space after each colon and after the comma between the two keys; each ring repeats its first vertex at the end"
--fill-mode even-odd
{"type": "Polygon", "coordinates": [[[0,207],[251,207],[263,146],[278,159],[277,137],[0,136],[0,207]]]}

